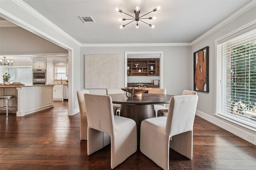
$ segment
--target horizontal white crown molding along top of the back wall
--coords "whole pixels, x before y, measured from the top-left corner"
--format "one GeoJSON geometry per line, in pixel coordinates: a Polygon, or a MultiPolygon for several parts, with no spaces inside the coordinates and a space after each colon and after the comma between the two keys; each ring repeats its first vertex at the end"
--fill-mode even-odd
{"type": "Polygon", "coordinates": [[[190,45],[191,43],[83,43],[81,47],[164,47],[190,45]]]}

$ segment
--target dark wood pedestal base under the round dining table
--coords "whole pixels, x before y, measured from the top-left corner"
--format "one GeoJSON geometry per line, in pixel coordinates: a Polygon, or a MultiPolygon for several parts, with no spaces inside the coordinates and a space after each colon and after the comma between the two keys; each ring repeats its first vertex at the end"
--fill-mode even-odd
{"type": "Polygon", "coordinates": [[[137,126],[137,144],[140,144],[140,124],[143,120],[155,117],[154,105],[121,105],[120,116],[132,119],[137,126]]]}

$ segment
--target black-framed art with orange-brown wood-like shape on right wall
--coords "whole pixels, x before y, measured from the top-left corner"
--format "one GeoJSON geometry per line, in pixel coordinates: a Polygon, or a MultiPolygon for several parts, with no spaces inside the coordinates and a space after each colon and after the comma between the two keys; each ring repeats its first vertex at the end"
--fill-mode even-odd
{"type": "Polygon", "coordinates": [[[194,91],[209,93],[209,47],[194,52],[194,91]]]}

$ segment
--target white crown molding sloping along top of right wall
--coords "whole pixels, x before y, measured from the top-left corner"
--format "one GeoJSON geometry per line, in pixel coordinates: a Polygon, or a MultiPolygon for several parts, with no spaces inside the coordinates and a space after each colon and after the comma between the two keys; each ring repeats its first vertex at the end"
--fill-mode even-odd
{"type": "Polygon", "coordinates": [[[256,0],[252,0],[251,2],[249,2],[248,4],[246,4],[245,6],[240,8],[238,11],[236,11],[234,14],[232,14],[231,16],[229,16],[228,18],[226,18],[225,20],[223,20],[222,22],[220,22],[219,24],[217,24],[216,26],[214,26],[213,28],[208,30],[202,36],[200,36],[196,40],[192,41],[191,45],[194,45],[194,44],[200,42],[202,39],[206,38],[207,36],[209,36],[210,34],[215,32],[216,30],[222,28],[223,26],[225,26],[226,24],[228,24],[232,20],[238,18],[240,15],[242,15],[245,12],[247,12],[248,10],[252,9],[254,6],[256,6],[256,0]]]}

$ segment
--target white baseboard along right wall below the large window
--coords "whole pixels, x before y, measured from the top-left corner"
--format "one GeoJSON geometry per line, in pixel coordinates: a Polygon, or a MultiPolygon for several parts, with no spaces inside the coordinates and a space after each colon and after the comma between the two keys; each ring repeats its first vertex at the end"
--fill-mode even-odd
{"type": "Polygon", "coordinates": [[[256,145],[256,134],[253,134],[251,132],[248,132],[247,130],[244,130],[242,128],[236,127],[234,125],[231,125],[230,123],[227,123],[225,121],[222,121],[221,119],[218,119],[214,117],[214,115],[210,116],[204,112],[196,110],[196,115],[201,117],[202,119],[205,119],[206,121],[213,123],[214,125],[217,125],[218,127],[221,127],[228,132],[231,132],[235,134],[236,136],[256,145]],[[249,139],[248,136],[253,136],[252,139],[249,139]]]}

